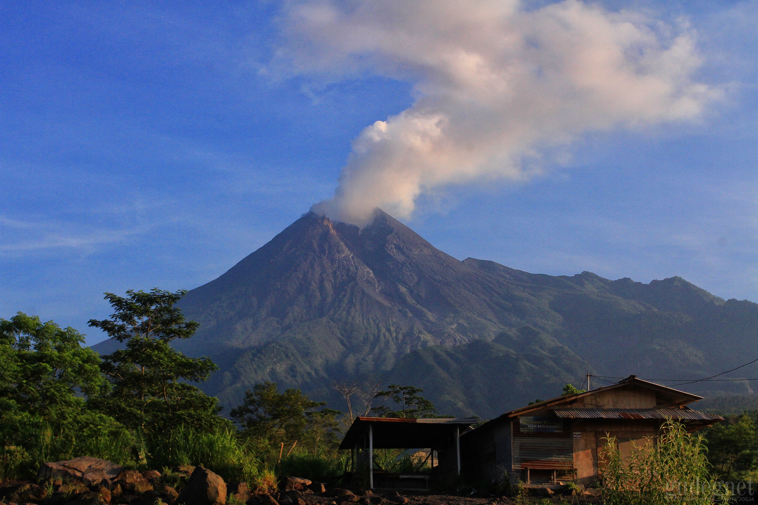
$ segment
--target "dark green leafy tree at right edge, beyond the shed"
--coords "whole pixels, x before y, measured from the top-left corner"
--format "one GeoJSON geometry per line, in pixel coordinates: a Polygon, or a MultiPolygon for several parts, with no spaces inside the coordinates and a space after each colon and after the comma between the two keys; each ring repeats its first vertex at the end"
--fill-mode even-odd
{"type": "Polygon", "coordinates": [[[722,479],[729,480],[733,473],[756,468],[758,429],[747,413],[711,426],[703,435],[708,446],[708,460],[722,479]]]}

